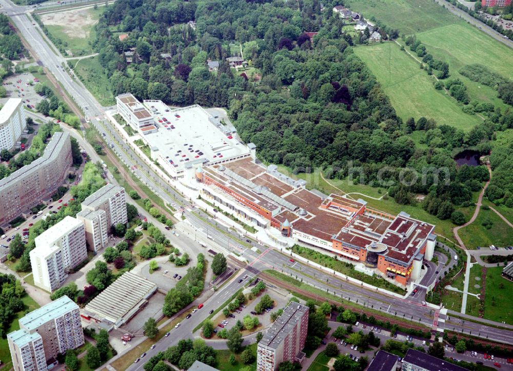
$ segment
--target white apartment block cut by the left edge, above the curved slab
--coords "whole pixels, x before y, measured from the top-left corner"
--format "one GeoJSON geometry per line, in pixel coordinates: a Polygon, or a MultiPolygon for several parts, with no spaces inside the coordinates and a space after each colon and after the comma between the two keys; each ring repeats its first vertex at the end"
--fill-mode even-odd
{"type": "Polygon", "coordinates": [[[10,98],[0,110],[0,150],[12,149],[27,127],[21,98],[10,98]]]}

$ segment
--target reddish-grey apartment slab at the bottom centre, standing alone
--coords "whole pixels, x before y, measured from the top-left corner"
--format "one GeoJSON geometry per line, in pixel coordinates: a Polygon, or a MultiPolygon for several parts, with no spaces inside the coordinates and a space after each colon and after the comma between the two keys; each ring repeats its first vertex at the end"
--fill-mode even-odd
{"type": "Polygon", "coordinates": [[[258,343],[257,371],[274,371],[285,361],[301,362],[307,331],[308,307],[291,302],[258,343]]]}

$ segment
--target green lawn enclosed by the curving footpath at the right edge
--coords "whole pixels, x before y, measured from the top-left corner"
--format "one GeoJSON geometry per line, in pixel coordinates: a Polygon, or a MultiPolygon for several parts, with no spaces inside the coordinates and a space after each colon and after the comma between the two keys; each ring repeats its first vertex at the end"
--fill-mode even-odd
{"type": "Polygon", "coordinates": [[[475,250],[476,246],[509,246],[513,238],[513,229],[507,225],[496,213],[481,208],[476,220],[459,230],[459,235],[467,249],[475,250]],[[482,223],[491,221],[490,229],[482,223]]]}

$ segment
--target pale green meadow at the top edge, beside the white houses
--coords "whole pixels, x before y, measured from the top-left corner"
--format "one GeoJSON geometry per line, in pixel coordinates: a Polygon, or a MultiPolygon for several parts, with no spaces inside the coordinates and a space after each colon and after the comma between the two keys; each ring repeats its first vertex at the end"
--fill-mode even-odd
{"type": "Polygon", "coordinates": [[[387,26],[397,28],[401,34],[459,22],[455,15],[430,0],[345,0],[344,4],[362,12],[364,18],[374,16],[387,26]]]}

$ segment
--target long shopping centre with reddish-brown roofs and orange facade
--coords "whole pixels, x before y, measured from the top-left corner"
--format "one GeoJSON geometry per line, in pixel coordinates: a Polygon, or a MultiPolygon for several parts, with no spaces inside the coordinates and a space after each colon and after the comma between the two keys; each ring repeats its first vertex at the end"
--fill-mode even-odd
{"type": "Polygon", "coordinates": [[[251,158],[198,168],[202,197],[261,228],[337,254],[406,285],[435,250],[435,226],[366,202],[305,189],[305,184],[251,158]]]}

